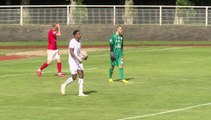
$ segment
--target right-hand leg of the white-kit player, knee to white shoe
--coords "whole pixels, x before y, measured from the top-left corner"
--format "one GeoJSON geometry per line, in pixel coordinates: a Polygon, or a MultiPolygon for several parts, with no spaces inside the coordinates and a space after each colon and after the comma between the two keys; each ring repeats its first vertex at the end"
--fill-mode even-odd
{"type": "Polygon", "coordinates": [[[84,89],[84,71],[83,70],[78,70],[78,76],[79,76],[79,80],[78,80],[78,86],[79,86],[79,92],[78,92],[78,96],[88,96],[85,95],[83,92],[84,89]]]}

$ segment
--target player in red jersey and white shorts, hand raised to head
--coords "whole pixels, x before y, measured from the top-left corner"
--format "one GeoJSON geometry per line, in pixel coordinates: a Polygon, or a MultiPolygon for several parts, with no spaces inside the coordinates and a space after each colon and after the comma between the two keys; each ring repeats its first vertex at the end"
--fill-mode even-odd
{"type": "Polygon", "coordinates": [[[60,36],[60,25],[53,24],[52,28],[48,32],[48,49],[47,49],[47,62],[45,62],[36,72],[38,77],[41,77],[42,70],[48,67],[53,60],[57,60],[57,69],[58,69],[58,76],[64,77],[65,75],[62,74],[62,64],[61,64],[61,57],[59,54],[59,50],[57,49],[57,36],[60,36]]]}

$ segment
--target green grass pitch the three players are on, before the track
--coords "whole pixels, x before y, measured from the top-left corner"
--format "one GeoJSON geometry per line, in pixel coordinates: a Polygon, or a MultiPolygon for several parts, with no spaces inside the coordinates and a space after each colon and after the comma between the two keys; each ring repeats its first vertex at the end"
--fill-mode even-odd
{"type": "MultiPolygon", "coordinates": [[[[108,55],[108,50],[89,52],[84,62],[88,97],[77,96],[77,81],[67,87],[67,95],[60,94],[67,77],[56,76],[56,62],[38,78],[35,71],[46,57],[0,61],[0,119],[210,120],[210,47],[126,49],[124,71],[130,84],[118,81],[117,69],[116,81],[107,82],[108,55]]],[[[69,76],[67,59],[62,56],[69,76]]]]}

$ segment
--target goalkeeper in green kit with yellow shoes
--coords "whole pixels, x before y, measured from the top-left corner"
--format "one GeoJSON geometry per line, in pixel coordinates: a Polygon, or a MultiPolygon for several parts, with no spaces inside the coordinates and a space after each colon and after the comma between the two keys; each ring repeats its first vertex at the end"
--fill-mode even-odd
{"type": "Polygon", "coordinates": [[[112,83],[113,79],[113,71],[114,67],[119,67],[119,78],[123,83],[128,83],[127,80],[124,79],[124,70],[123,70],[123,36],[122,36],[122,27],[116,27],[116,33],[113,34],[110,38],[110,62],[111,68],[109,69],[109,82],[112,83]]]}

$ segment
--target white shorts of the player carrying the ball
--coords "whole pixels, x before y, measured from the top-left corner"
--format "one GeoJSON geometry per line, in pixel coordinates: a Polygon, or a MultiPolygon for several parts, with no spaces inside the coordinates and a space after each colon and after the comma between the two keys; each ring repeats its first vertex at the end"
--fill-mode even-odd
{"type": "Polygon", "coordinates": [[[78,63],[75,60],[69,60],[69,69],[71,74],[77,74],[77,71],[84,71],[83,63],[78,63]]]}

